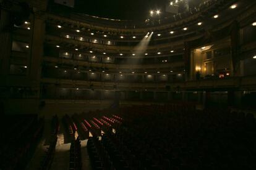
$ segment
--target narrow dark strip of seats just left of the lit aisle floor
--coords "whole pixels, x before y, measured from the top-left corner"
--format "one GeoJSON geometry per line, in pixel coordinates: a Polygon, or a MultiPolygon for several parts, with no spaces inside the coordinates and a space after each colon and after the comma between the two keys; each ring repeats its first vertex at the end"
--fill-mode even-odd
{"type": "Polygon", "coordinates": [[[53,157],[55,153],[56,143],[58,140],[57,134],[59,132],[59,119],[58,116],[53,116],[51,119],[51,136],[49,137],[49,147],[40,163],[40,169],[45,170],[51,168],[53,157]]]}

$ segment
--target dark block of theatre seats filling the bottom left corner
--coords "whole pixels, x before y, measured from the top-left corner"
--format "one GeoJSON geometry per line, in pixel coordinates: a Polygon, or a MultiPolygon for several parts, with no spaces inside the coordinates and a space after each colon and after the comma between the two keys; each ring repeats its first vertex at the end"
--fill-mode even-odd
{"type": "Polygon", "coordinates": [[[44,120],[34,115],[0,119],[0,169],[24,169],[43,134],[44,120]]]}

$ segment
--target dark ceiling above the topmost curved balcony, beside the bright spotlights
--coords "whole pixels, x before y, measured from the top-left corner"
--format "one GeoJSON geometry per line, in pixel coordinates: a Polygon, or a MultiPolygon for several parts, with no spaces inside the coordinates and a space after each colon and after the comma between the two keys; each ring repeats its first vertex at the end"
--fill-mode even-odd
{"type": "Polygon", "coordinates": [[[145,20],[149,17],[150,10],[164,11],[168,2],[169,0],[75,0],[74,11],[105,18],[145,20]]]}

